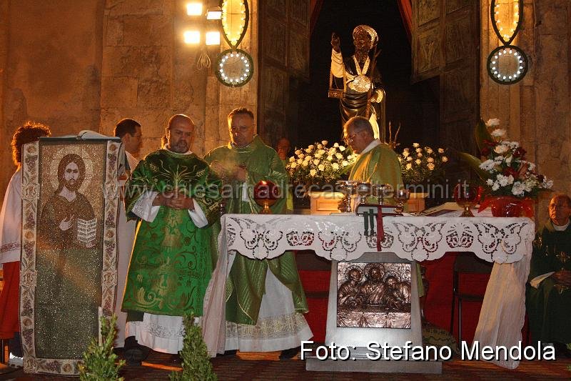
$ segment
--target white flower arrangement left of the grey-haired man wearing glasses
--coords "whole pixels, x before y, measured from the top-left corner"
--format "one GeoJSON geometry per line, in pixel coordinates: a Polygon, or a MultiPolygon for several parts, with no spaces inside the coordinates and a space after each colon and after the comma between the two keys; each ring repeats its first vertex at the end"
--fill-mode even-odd
{"type": "Polygon", "coordinates": [[[334,143],[328,147],[328,141],[315,142],[305,149],[295,149],[285,169],[295,184],[326,183],[339,179],[349,171],[357,159],[345,146],[334,143]]]}

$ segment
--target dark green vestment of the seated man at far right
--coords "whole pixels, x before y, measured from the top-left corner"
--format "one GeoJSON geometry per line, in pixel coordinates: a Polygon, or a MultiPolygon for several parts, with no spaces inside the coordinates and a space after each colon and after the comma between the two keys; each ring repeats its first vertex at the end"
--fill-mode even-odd
{"type": "MultiPolygon", "coordinates": [[[[571,270],[571,225],[557,232],[549,220],[535,234],[529,280],[560,269],[571,270]]],[[[560,287],[551,276],[538,288],[528,283],[525,305],[532,342],[571,342],[571,289],[560,287]]]]}

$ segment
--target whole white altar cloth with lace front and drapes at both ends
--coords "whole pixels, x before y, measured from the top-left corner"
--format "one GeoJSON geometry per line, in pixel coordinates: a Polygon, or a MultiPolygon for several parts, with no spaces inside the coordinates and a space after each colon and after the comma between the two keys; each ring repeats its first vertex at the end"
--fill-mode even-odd
{"type": "MultiPolygon", "coordinates": [[[[458,214],[384,217],[381,252],[394,253],[408,261],[438,259],[446,252],[473,252],[495,262],[475,340],[480,347],[515,346],[522,339],[525,282],[535,224],[528,218],[465,218],[458,214]]],[[[203,330],[211,355],[223,347],[223,292],[236,252],[253,259],[271,259],[286,250],[309,249],[320,257],[340,262],[359,259],[365,253],[378,254],[376,235],[365,234],[363,218],[355,214],[226,214],[221,224],[220,257],[205,297],[204,321],[209,323],[203,330]]],[[[330,330],[328,323],[325,344],[333,341],[330,330]]],[[[494,362],[508,368],[519,365],[519,361],[510,359],[494,362]]]]}

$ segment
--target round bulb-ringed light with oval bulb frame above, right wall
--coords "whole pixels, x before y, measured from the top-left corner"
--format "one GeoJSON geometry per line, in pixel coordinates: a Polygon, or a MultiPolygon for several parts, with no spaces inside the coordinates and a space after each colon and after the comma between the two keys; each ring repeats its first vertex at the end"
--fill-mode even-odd
{"type": "Polygon", "coordinates": [[[498,84],[515,84],[517,81],[521,81],[527,73],[527,56],[525,52],[515,45],[510,45],[515,39],[517,32],[520,31],[523,19],[520,15],[520,11],[523,9],[523,1],[512,1],[515,11],[510,26],[507,26],[506,23],[502,23],[502,19],[500,18],[500,4],[496,4],[496,0],[492,0],[490,6],[492,26],[497,38],[502,42],[502,46],[498,46],[487,56],[487,74],[498,84]],[[504,29],[502,25],[505,25],[506,29],[504,29]],[[509,30],[509,33],[506,33],[505,30],[509,30]],[[506,56],[509,57],[508,59],[512,60],[513,63],[507,65],[509,66],[507,69],[500,65],[500,60],[505,60],[506,56]]]}

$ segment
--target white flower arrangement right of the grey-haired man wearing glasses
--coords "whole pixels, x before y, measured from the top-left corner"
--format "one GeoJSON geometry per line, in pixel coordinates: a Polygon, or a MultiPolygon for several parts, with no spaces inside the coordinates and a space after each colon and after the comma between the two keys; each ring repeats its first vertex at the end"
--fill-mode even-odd
{"type": "Polygon", "coordinates": [[[412,149],[403,149],[403,153],[398,155],[403,182],[423,184],[441,179],[444,176],[443,166],[448,162],[444,152],[443,148],[434,150],[430,147],[420,147],[419,143],[413,143],[412,149]]]}

